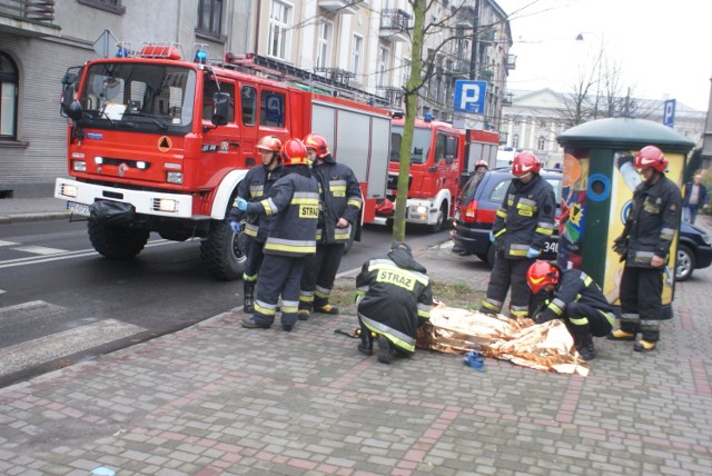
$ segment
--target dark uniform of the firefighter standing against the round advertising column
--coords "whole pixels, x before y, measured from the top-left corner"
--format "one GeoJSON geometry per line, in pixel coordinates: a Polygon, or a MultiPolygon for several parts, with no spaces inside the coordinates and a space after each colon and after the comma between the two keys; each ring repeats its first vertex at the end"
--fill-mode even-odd
{"type": "Polygon", "coordinates": [[[653,255],[669,259],[681,204],[680,189],[664,175],[654,185],[643,181],[633,192],[623,231],[627,251],[621,278],[621,330],[633,335],[640,331],[647,343],[660,340],[660,321],[665,319],[662,307],[665,267],[654,268],[651,260],[653,255]]]}

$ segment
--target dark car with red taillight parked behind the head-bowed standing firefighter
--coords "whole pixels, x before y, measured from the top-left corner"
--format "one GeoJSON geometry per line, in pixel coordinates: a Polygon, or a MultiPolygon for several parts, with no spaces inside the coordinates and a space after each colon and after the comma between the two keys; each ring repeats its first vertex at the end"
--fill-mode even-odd
{"type": "MultiPolygon", "coordinates": [[[[541,176],[554,187],[556,204],[558,204],[561,201],[562,172],[543,169],[541,176]]],[[[494,247],[490,242],[490,230],[511,181],[510,167],[487,170],[484,173],[474,175],[467,180],[455,201],[455,229],[451,231],[455,244],[453,251],[464,256],[475,255],[494,266],[494,247]]],[[[558,224],[554,228],[558,229],[558,224]]],[[[542,250],[542,259],[556,259],[557,249],[558,237],[552,236],[542,250]]]]}

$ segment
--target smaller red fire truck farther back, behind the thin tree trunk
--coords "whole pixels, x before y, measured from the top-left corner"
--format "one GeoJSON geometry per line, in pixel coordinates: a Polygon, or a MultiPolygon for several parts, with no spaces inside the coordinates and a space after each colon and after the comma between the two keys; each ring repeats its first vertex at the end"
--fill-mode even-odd
{"type": "MultiPolygon", "coordinates": [[[[403,118],[393,119],[387,200],[398,195],[398,167],[403,118]]],[[[425,225],[439,231],[454,217],[459,187],[478,160],[494,163],[500,136],[496,132],[472,130],[469,157],[465,157],[465,131],[447,122],[418,118],[413,131],[406,222],[425,225]]],[[[378,208],[378,222],[387,222],[394,207],[378,208]]]]}

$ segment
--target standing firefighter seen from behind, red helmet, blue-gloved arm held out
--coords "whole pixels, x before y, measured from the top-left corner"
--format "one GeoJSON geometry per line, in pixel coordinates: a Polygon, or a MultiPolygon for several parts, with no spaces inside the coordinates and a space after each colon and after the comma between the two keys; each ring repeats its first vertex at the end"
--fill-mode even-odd
{"type": "Polygon", "coordinates": [[[237,198],[237,208],[247,214],[274,216],[265,241],[263,266],[257,276],[255,313],[243,319],[243,327],[268,328],[275,320],[281,295],[281,327],[289,331],[297,320],[299,279],[306,256],[316,251],[319,187],[309,170],[307,151],[299,139],[281,147],[285,176],[260,201],[237,198]]]}

